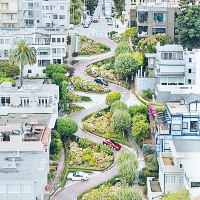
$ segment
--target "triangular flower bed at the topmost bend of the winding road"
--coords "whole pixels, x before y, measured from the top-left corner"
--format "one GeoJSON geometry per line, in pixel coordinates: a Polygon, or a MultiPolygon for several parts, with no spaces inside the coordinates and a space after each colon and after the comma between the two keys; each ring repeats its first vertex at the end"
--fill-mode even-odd
{"type": "Polygon", "coordinates": [[[110,47],[98,43],[86,36],[81,37],[79,55],[92,55],[110,51],[110,47]]]}

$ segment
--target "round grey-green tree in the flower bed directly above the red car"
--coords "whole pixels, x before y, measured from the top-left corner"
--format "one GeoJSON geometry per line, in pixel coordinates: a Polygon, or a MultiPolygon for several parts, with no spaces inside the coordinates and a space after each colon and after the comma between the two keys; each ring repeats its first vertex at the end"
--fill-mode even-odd
{"type": "Polygon", "coordinates": [[[124,110],[115,110],[112,116],[112,127],[124,134],[124,131],[127,130],[131,125],[131,116],[127,111],[124,110]]]}

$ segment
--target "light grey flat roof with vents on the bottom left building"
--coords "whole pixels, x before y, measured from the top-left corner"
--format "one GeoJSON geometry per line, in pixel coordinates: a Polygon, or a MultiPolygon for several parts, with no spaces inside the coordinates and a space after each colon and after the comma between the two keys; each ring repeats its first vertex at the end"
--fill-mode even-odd
{"type": "MultiPolygon", "coordinates": [[[[13,152],[0,153],[0,168],[11,164],[12,161],[4,158],[13,152]]],[[[21,161],[16,172],[5,173],[0,171],[0,180],[40,180],[44,175],[44,170],[47,165],[46,154],[44,152],[20,152],[21,161]]]]}

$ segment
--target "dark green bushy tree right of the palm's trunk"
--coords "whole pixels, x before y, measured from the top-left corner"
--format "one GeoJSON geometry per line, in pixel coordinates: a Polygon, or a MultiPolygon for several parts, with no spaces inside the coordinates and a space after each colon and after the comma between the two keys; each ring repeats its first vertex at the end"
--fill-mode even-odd
{"type": "Polygon", "coordinates": [[[66,64],[50,64],[43,70],[49,78],[53,78],[53,74],[66,74],[68,66],[66,64]]]}

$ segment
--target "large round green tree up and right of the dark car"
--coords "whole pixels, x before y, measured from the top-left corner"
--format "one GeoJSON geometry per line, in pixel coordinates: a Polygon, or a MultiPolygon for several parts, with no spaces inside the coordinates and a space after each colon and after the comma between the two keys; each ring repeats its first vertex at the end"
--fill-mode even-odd
{"type": "Polygon", "coordinates": [[[115,70],[124,79],[129,79],[138,69],[138,64],[132,53],[122,53],[115,59],[115,70]]]}

